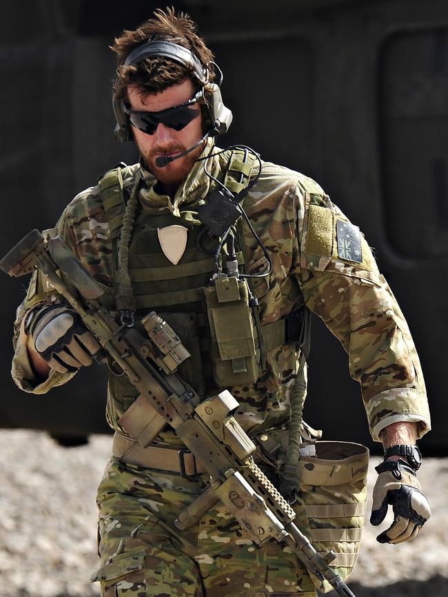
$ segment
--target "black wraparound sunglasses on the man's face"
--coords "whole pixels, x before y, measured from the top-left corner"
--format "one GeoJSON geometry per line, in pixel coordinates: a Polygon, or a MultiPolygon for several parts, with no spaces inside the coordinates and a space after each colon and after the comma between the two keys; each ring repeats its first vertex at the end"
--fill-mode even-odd
{"type": "Polygon", "coordinates": [[[201,90],[192,99],[160,112],[139,112],[139,110],[132,110],[129,105],[123,105],[123,110],[125,114],[128,114],[132,126],[146,134],[154,134],[159,124],[179,131],[198,117],[201,112],[200,108],[191,108],[191,106],[198,103],[202,97],[201,90]]]}

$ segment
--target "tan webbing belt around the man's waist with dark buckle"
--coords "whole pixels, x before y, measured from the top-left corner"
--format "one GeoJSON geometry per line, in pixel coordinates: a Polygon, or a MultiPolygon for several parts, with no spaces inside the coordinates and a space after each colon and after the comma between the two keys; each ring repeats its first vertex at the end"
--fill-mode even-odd
{"type": "Polygon", "coordinates": [[[182,477],[205,472],[201,463],[187,448],[170,448],[150,445],[141,447],[132,438],[115,432],[112,455],[123,463],[138,465],[159,471],[169,471],[182,477]]]}

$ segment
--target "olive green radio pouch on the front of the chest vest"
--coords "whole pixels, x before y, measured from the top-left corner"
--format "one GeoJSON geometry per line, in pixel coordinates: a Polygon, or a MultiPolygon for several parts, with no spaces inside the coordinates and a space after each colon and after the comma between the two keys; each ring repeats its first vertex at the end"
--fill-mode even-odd
{"type": "Polygon", "coordinates": [[[204,287],[212,336],[211,358],[216,385],[248,385],[258,379],[254,323],[247,282],[236,278],[216,280],[204,287]]]}

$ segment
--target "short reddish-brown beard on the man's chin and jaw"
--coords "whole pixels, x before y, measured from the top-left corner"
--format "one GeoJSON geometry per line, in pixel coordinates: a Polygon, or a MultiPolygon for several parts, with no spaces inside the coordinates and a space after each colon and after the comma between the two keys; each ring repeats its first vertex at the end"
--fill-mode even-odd
{"type": "Polygon", "coordinates": [[[139,143],[137,143],[137,146],[139,147],[140,154],[145,165],[147,166],[147,169],[151,172],[151,174],[154,174],[159,183],[167,185],[170,188],[177,188],[181,183],[183,183],[183,181],[185,181],[188,174],[190,174],[194,163],[203,151],[203,143],[201,143],[201,145],[187,155],[182,156],[179,159],[175,159],[174,161],[167,163],[167,165],[163,166],[162,168],[159,168],[156,165],[156,158],[163,156],[173,156],[186,151],[188,148],[185,148],[180,143],[164,145],[163,147],[154,145],[150,151],[145,151],[140,147],[139,143]]]}

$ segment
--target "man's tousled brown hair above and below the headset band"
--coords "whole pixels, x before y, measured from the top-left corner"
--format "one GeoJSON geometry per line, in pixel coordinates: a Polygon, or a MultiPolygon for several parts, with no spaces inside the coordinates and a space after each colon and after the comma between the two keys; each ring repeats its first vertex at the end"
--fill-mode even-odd
{"type": "MultiPolygon", "coordinates": [[[[196,23],[184,12],[175,13],[174,8],[161,8],[154,11],[148,19],[134,31],[124,30],[110,46],[117,55],[117,71],[114,83],[116,99],[127,99],[128,85],[141,89],[143,97],[150,93],[163,91],[171,85],[183,83],[192,76],[193,68],[181,65],[165,57],[150,57],[143,61],[124,66],[128,55],[139,45],[147,41],[172,41],[183,45],[205,66],[213,60],[212,51],[197,33],[196,23]]],[[[213,72],[210,80],[213,79],[213,72]]],[[[196,81],[193,79],[195,86],[196,81]]]]}

